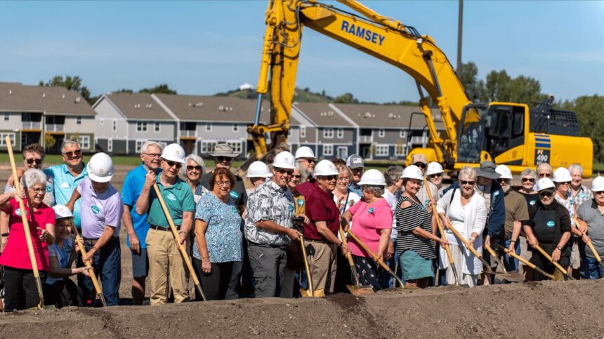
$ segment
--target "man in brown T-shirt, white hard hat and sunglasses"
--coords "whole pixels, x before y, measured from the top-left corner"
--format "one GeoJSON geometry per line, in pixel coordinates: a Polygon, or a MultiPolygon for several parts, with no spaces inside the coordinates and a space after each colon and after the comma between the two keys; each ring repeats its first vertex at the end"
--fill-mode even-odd
{"type": "MultiPolygon", "coordinates": [[[[501,175],[497,179],[497,182],[501,185],[501,189],[504,190],[504,204],[506,205],[506,223],[504,224],[505,247],[520,255],[520,241],[518,237],[520,237],[523,222],[528,220],[527,201],[523,197],[523,194],[511,190],[513,175],[508,166],[499,165],[495,168],[495,172],[501,175]]],[[[499,251],[499,248],[496,251],[499,251]]],[[[505,258],[504,265],[508,272],[518,270],[518,259],[502,251],[499,251],[499,255],[505,258]]]]}

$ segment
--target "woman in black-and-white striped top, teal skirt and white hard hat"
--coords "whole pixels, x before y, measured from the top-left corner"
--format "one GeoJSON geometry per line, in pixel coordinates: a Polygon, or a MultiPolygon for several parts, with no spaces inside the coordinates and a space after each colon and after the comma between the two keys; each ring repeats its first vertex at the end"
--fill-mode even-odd
{"type": "Polygon", "coordinates": [[[402,277],[407,286],[426,288],[428,279],[434,277],[432,260],[436,258],[434,243],[445,246],[447,239],[433,234],[435,215],[428,212],[424,204],[417,199],[424,176],[415,165],[402,171],[402,185],[405,192],[398,200],[395,210],[398,230],[396,249],[398,252],[402,277]]]}

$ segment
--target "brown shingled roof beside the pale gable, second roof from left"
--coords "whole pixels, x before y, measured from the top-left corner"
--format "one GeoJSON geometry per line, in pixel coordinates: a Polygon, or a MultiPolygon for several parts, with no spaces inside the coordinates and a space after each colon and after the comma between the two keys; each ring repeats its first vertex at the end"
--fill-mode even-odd
{"type": "Polygon", "coordinates": [[[126,119],[173,120],[149,93],[108,93],[110,100],[126,119]]]}

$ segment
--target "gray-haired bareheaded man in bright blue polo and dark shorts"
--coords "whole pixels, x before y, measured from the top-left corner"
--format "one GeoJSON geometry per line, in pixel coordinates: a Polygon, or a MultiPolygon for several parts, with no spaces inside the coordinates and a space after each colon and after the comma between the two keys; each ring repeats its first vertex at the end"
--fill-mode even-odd
{"type": "Polygon", "coordinates": [[[162,146],[157,142],[147,141],[140,147],[140,159],[143,164],[133,168],[126,175],[122,186],[122,201],[124,202],[124,215],[122,222],[126,227],[128,236],[126,245],[132,255],[132,301],[134,305],[143,305],[145,298],[145,280],[149,274],[149,260],[147,258],[147,244],[145,238],[149,231],[147,213],[136,213],[136,201],[145,186],[145,175],[148,171],[162,171],[162,146]]]}

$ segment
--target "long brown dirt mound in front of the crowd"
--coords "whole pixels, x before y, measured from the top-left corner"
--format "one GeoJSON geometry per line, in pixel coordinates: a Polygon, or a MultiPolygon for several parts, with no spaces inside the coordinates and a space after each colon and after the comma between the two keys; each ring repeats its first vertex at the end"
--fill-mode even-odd
{"type": "Polygon", "coordinates": [[[604,281],[0,315],[0,338],[602,338],[604,281]]]}

